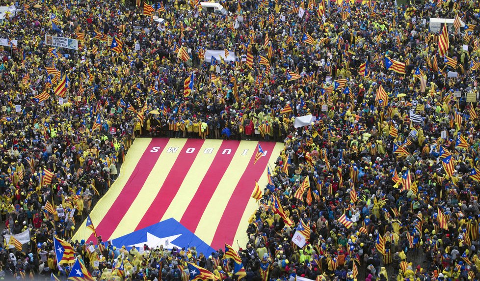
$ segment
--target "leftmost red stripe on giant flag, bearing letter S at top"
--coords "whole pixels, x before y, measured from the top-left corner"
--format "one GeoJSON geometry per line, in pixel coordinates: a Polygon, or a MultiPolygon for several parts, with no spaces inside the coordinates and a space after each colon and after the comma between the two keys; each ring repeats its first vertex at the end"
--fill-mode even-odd
{"type": "MultiPolygon", "coordinates": [[[[95,228],[98,235],[102,235],[103,240],[107,241],[112,235],[117,225],[122,221],[128,209],[142,189],[145,181],[152,172],[153,167],[157,163],[161,152],[168,143],[168,139],[152,139],[147,149],[143,152],[142,157],[138,161],[130,178],[128,179],[122,192],[113,202],[104,219],[95,228]],[[158,152],[150,152],[153,147],[160,147],[158,152]]],[[[96,240],[93,234],[90,235],[87,241],[96,240]]]]}

